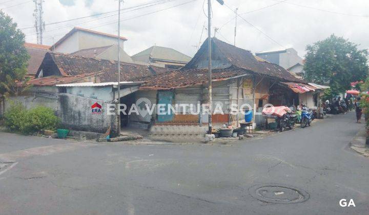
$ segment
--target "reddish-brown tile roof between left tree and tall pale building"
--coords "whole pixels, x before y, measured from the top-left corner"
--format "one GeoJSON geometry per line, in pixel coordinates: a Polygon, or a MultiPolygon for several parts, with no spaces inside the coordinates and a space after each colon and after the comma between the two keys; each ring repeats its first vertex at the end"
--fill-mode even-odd
{"type": "Polygon", "coordinates": [[[27,62],[27,74],[29,76],[34,76],[44,60],[45,54],[49,51],[49,46],[29,44],[28,42],[26,42],[24,46],[30,56],[27,62]]]}

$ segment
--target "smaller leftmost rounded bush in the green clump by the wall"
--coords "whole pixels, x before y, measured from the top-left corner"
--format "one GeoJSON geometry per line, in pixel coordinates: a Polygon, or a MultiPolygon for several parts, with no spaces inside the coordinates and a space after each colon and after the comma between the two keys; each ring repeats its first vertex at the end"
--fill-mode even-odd
{"type": "Polygon", "coordinates": [[[20,131],[20,126],[24,123],[26,109],[20,103],[13,103],[4,113],[4,123],[11,131],[20,131]]]}

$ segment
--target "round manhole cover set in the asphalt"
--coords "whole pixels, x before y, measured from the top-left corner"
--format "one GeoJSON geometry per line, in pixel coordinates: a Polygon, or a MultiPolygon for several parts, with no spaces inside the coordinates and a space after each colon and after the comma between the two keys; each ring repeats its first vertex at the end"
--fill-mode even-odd
{"type": "Polygon", "coordinates": [[[282,204],[304,202],[310,197],[305,190],[283,184],[255,185],[249,189],[249,193],[260,201],[282,204]]]}

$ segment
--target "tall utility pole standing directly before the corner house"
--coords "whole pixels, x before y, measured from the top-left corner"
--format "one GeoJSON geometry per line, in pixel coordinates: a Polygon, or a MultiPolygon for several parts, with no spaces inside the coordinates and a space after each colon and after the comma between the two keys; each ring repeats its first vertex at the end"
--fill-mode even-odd
{"type": "Polygon", "coordinates": [[[209,87],[208,87],[208,93],[209,93],[209,131],[208,134],[212,134],[212,114],[213,114],[213,110],[212,110],[212,68],[211,68],[211,45],[212,45],[212,41],[211,41],[211,0],[208,0],[208,70],[209,70],[209,74],[208,74],[208,78],[209,78],[209,87]]]}

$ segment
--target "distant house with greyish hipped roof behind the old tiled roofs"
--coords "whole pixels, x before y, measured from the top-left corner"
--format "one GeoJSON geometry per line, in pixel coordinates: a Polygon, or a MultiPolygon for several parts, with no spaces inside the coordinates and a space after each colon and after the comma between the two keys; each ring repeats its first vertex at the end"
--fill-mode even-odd
{"type": "Polygon", "coordinates": [[[185,66],[191,57],[172,48],[152,46],[132,56],[136,62],[145,62],[159,67],[178,69],[185,66]]]}

